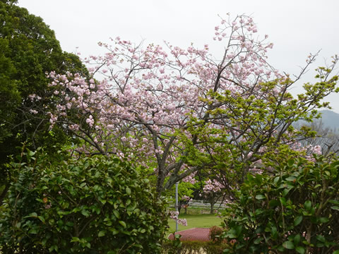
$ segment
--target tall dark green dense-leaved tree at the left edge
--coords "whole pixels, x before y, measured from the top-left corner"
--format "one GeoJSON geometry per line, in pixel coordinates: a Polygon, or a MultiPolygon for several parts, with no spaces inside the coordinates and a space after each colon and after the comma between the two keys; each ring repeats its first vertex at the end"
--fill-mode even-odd
{"type": "MultiPolygon", "coordinates": [[[[47,121],[32,118],[29,95],[42,98],[41,103],[52,103],[45,97],[48,79],[46,72],[57,70],[86,73],[77,56],[62,52],[54,31],[42,18],[31,15],[16,1],[0,1],[0,202],[8,188],[8,171],[2,166],[8,155],[16,154],[16,147],[60,145],[67,139],[57,128],[52,135],[47,121]]],[[[34,111],[33,111],[34,112],[34,111]]],[[[48,120],[48,119],[47,119],[48,120]]]]}

